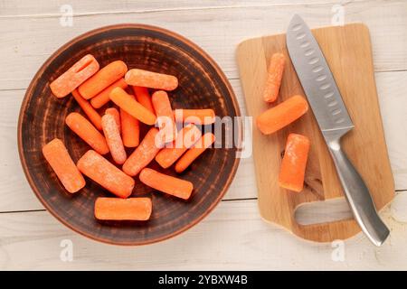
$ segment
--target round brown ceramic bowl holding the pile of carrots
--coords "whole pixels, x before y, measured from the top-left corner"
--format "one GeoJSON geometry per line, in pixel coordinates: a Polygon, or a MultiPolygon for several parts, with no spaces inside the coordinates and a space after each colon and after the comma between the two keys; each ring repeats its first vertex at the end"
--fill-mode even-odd
{"type": "MultiPolygon", "coordinates": [[[[33,191],[53,216],[86,237],[110,244],[142,245],[174,237],[204,219],[222,199],[239,164],[237,150],[208,149],[180,175],[194,183],[193,195],[187,201],[154,191],[137,176],[132,196],[150,196],[153,201],[153,214],[147,222],[96,220],[96,198],[113,195],[90,179],[81,191],[68,193],[42,154],[43,144],[54,137],[62,139],[74,162],[90,149],[64,125],[65,117],[80,107],[71,96],[55,98],[49,87],[53,79],[88,53],[96,57],[100,67],[122,60],[129,69],[175,75],[179,87],[170,93],[173,108],[212,107],[219,117],[239,116],[231,85],[213,59],[184,37],[153,26],[118,24],[82,34],[63,45],[45,61],[25,94],[18,122],[20,159],[33,191]]],[[[149,167],[159,170],[154,162],[149,167]]],[[[173,168],[160,171],[175,175],[173,168]]]]}

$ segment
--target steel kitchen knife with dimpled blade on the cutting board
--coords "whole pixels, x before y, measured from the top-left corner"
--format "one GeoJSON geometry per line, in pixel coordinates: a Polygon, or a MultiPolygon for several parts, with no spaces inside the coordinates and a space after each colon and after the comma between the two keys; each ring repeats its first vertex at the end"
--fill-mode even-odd
{"type": "Polygon", "coordinates": [[[341,137],[354,124],[324,54],[307,23],[297,14],[289,23],[286,37],[289,57],[334,160],[346,200],[364,234],[375,246],[381,246],[389,229],[380,219],[362,177],[341,149],[341,137]]]}

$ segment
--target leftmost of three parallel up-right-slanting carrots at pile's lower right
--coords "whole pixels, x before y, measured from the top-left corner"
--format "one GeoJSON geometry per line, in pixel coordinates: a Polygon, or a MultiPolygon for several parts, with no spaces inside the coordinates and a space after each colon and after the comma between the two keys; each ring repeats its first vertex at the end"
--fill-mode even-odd
{"type": "Polygon", "coordinates": [[[141,144],[137,146],[133,154],[130,154],[126,163],[123,164],[123,172],[135,176],[148,163],[154,160],[154,157],[162,147],[160,139],[156,135],[158,135],[158,129],[156,127],[150,128],[141,144]]]}

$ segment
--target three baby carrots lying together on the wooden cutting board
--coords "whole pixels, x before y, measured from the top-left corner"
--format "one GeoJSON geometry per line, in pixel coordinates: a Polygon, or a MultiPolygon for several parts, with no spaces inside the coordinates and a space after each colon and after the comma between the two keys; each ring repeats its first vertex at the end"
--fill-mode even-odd
{"type": "MultiPolygon", "coordinates": [[[[271,56],[263,99],[272,103],[279,96],[284,72],[285,56],[271,56]]],[[[292,96],[275,107],[270,107],[257,117],[257,126],[264,135],[270,135],[302,117],[308,111],[308,102],[299,95],[292,96]]],[[[309,139],[306,135],[289,134],[279,170],[279,186],[290,191],[302,191],[308,160],[309,139]]]]}

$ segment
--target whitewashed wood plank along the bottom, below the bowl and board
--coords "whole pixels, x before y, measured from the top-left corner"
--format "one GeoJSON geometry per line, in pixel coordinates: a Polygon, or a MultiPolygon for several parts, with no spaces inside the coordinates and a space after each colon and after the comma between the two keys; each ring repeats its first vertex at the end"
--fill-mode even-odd
{"type": "Polygon", "coordinates": [[[333,261],[331,244],[295,238],[260,219],[256,200],[224,201],[184,234],[144,247],[115,247],[83,238],[44,212],[0,214],[0,269],[407,269],[406,224],[383,213],[392,229],[383,247],[361,234],[345,241],[345,260],[333,261]],[[62,262],[63,239],[73,244],[73,261],[62,262]]]}

